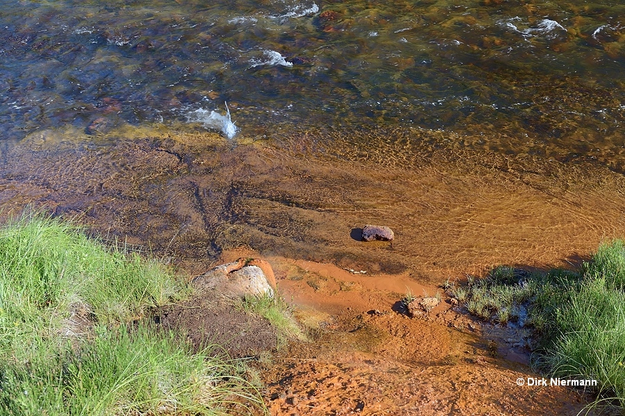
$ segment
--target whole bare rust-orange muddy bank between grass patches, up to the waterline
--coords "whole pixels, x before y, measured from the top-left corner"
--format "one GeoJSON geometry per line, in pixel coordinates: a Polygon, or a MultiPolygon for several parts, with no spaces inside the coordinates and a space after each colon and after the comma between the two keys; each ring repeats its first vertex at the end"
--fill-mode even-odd
{"type": "Polygon", "coordinates": [[[376,279],[331,264],[270,261],[312,339],[293,343],[265,364],[264,395],[272,415],[585,411],[590,397],[581,390],[517,385],[519,378],[540,377],[527,366],[528,349],[493,334],[444,296],[422,319],[397,308],[403,296],[397,286],[431,294],[436,286],[406,275],[376,279]]]}

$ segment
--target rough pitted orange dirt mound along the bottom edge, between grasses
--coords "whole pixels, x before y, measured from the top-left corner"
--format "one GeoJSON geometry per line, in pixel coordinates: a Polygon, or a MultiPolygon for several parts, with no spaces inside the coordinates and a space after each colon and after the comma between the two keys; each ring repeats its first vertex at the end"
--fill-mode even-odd
{"type": "Polygon", "coordinates": [[[272,415],[577,415],[581,396],[564,388],[515,385],[523,369],[469,352],[413,367],[372,354],[314,352],[297,346],[267,378],[272,415]]]}

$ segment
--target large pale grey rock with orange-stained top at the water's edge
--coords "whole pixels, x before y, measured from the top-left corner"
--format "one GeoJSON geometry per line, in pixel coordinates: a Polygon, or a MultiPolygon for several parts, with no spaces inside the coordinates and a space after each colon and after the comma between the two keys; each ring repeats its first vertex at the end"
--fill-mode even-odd
{"type": "Polygon", "coordinates": [[[210,290],[226,297],[264,296],[274,297],[274,289],[263,269],[245,266],[241,261],[222,264],[193,279],[199,290],[210,290]]]}

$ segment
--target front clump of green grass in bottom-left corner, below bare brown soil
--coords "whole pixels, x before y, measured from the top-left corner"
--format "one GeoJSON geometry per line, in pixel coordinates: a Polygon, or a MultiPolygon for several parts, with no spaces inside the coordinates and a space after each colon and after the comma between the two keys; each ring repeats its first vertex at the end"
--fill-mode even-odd
{"type": "Polygon", "coordinates": [[[226,415],[262,406],[236,363],[144,327],[99,327],[78,351],[33,354],[0,372],[3,415],[226,415]],[[236,405],[247,403],[247,406],[236,405]],[[228,406],[231,406],[228,408],[228,406]]]}

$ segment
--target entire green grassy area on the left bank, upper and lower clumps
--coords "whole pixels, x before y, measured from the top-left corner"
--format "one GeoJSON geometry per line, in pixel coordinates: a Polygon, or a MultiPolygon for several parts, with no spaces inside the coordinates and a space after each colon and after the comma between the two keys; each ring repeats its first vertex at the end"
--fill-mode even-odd
{"type": "Polygon", "coordinates": [[[263,408],[240,363],[126,322],[185,295],[172,270],[80,229],[24,216],[0,229],[0,414],[216,415],[263,408]],[[68,336],[74,309],[92,322],[68,336]],[[236,405],[233,402],[242,403],[236,405]]]}

